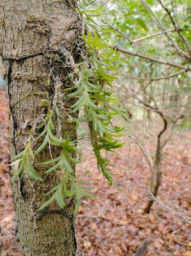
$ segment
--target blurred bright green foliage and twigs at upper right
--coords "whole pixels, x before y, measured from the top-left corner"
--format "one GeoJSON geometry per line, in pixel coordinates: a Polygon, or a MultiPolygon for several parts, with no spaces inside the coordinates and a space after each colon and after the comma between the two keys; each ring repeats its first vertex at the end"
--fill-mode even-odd
{"type": "Polygon", "coordinates": [[[152,106],[156,103],[171,118],[179,113],[190,115],[186,107],[190,98],[190,71],[173,66],[178,64],[190,69],[190,1],[161,2],[171,17],[158,0],[111,0],[102,17],[104,22],[116,28],[104,34],[105,40],[110,40],[112,46],[148,57],[121,53],[115,63],[120,101],[138,119],[147,110],[136,107],[142,106],[136,98],[152,106]],[[169,32],[163,33],[164,30],[169,32]],[[159,64],[151,58],[172,65],[159,64]],[[178,99],[173,101],[176,97],[178,99]]]}

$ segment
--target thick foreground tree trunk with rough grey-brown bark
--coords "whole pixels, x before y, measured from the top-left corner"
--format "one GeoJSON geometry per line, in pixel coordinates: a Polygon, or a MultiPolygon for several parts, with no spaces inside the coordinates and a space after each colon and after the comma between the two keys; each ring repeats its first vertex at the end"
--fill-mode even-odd
{"type": "MultiPolygon", "coordinates": [[[[66,78],[71,65],[80,59],[82,26],[75,0],[1,0],[0,3],[0,54],[6,68],[6,83],[10,100],[11,157],[20,153],[27,144],[29,130],[36,119],[45,114],[41,99],[54,94],[46,81],[70,83],[66,78]],[[65,67],[66,66],[66,67],[65,67]]],[[[65,103],[65,109],[71,102],[65,103]]],[[[76,138],[74,124],[66,123],[63,110],[63,128],[76,138]]],[[[33,142],[33,150],[42,143],[33,142]]],[[[18,237],[23,256],[75,255],[74,200],[67,201],[61,210],[56,203],[47,210],[37,212],[49,199],[44,193],[63,177],[63,173],[43,175],[40,162],[50,159],[49,147],[34,162],[36,171],[45,182],[27,177],[13,183],[18,237]]],[[[51,146],[52,156],[59,149],[51,146]]]]}

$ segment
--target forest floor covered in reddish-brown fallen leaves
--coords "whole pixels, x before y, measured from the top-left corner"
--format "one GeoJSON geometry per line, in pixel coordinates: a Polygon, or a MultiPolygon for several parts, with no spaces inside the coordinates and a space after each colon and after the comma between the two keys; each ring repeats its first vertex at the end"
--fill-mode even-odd
{"type": "MultiPolygon", "coordinates": [[[[0,137],[8,140],[8,103],[5,92],[0,89],[0,137]]],[[[164,149],[162,185],[158,198],[166,205],[190,218],[189,212],[189,132],[176,133],[164,149]],[[178,196],[179,195],[179,196],[178,196]],[[178,197],[178,198],[177,198],[178,197]]],[[[131,144],[131,163],[128,159],[129,145],[119,149],[122,155],[113,155],[118,176],[116,184],[109,187],[96,168],[91,149],[77,167],[77,175],[93,185],[96,198],[84,198],[76,219],[76,236],[79,256],[134,255],[138,246],[148,244],[148,256],[191,256],[188,224],[173,212],[156,202],[149,214],[143,213],[148,200],[150,172],[148,164],[136,144],[131,144]],[[130,169],[128,165],[130,164],[130,169]]],[[[152,148],[149,148],[152,150],[152,148]]],[[[154,150],[154,149],[153,149],[154,150]]],[[[11,196],[8,144],[0,140],[0,255],[19,256],[19,242],[15,236],[15,211],[11,196]]],[[[59,256],[59,255],[58,255],[59,256]]]]}

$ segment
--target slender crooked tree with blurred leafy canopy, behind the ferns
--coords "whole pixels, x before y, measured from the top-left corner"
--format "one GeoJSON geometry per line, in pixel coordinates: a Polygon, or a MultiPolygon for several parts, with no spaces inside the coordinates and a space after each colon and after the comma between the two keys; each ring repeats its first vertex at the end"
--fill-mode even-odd
{"type": "MultiPolygon", "coordinates": [[[[169,0],[119,0],[103,4],[107,4],[104,21],[112,30],[111,44],[123,53],[116,63],[119,66],[118,96],[131,116],[147,120],[144,131],[141,123],[139,132],[134,129],[132,136],[151,169],[150,191],[157,196],[162,150],[179,120],[182,125],[189,125],[189,4],[169,0]],[[153,126],[158,129],[153,130],[153,126]],[[146,149],[148,142],[139,140],[142,132],[146,141],[155,141],[155,153],[146,149]]],[[[146,212],[152,203],[148,201],[146,212]]]]}

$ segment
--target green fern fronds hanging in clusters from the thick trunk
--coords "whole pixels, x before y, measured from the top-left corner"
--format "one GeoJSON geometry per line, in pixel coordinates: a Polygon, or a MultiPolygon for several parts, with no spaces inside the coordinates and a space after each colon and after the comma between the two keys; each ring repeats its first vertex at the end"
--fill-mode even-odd
{"type": "MultiPolygon", "coordinates": [[[[126,121],[125,110],[116,107],[118,100],[113,95],[112,82],[116,80],[116,67],[112,64],[118,60],[120,53],[113,49],[99,37],[97,31],[105,31],[105,25],[95,21],[95,17],[102,14],[103,8],[91,10],[89,5],[95,1],[82,0],[80,3],[80,15],[84,16],[86,23],[93,28],[88,35],[82,35],[87,46],[88,60],[83,65],[77,65],[78,72],[70,74],[70,79],[73,80],[73,86],[64,90],[65,94],[63,100],[77,98],[77,101],[70,106],[71,113],[83,110],[84,121],[88,123],[91,134],[91,144],[93,146],[95,156],[97,158],[97,165],[99,171],[102,171],[105,178],[107,178],[109,185],[113,183],[113,171],[110,170],[112,164],[109,159],[102,156],[102,151],[114,152],[116,148],[123,146],[123,143],[118,142],[118,137],[123,134],[124,128],[119,128],[112,124],[112,117],[114,115],[121,115],[126,121]],[[75,79],[74,79],[75,78],[75,79]],[[74,82],[77,81],[77,82],[74,82]]],[[[47,83],[47,86],[54,85],[47,83]]],[[[46,193],[47,196],[52,194],[38,210],[47,207],[52,201],[56,200],[61,209],[66,206],[66,198],[75,197],[75,209],[77,211],[80,203],[80,198],[83,196],[94,197],[94,195],[85,192],[87,187],[86,182],[82,182],[75,178],[75,171],[73,166],[80,162],[80,155],[82,154],[76,148],[76,141],[71,141],[67,137],[57,137],[56,124],[60,114],[59,105],[52,106],[48,101],[41,101],[43,107],[47,108],[47,115],[45,120],[36,128],[43,131],[36,137],[34,142],[42,142],[33,154],[31,150],[31,141],[28,142],[26,149],[22,151],[12,160],[13,165],[18,169],[18,162],[20,164],[17,174],[13,177],[13,181],[20,175],[23,170],[36,180],[42,181],[42,178],[36,173],[31,166],[30,158],[34,160],[34,156],[40,154],[43,149],[47,148],[47,144],[59,147],[60,153],[56,158],[42,162],[41,165],[47,167],[46,175],[56,172],[58,169],[64,174],[64,178],[54,188],[46,193]],[[76,156],[79,156],[76,158],[76,156]],[[29,173],[30,171],[30,173],[29,173]],[[33,175],[31,175],[31,173],[33,175]]],[[[79,128],[79,118],[70,118],[68,123],[74,122],[75,129],[79,128]]],[[[59,135],[61,136],[61,135],[59,135]]],[[[21,177],[22,178],[22,177],[21,177]]]]}

